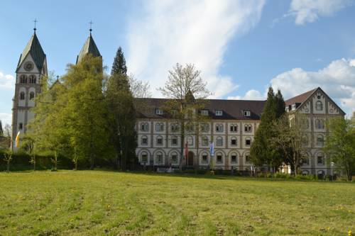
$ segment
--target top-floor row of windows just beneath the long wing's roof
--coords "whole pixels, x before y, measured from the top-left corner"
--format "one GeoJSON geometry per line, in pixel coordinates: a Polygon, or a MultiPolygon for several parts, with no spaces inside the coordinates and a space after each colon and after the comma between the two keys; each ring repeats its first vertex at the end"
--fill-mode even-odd
{"type": "MultiPolygon", "coordinates": [[[[163,132],[164,127],[165,127],[164,123],[155,123],[155,131],[157,131],[157,132],[163,132]]],[[[217,133],[224,132],[224,124],[215,125],[215,129],[216,129],[217,133]]],[[[178,125],[177,123],[173,123],[170,125],[170,130],[172,132],[178,132],[180,130],[180,125],[178,125]]],[[[195,130],[195,127],[193,125],[187,125],[186,130],[188,132],[193,132],[195,130]]],[[[209,132],[209,124],[202,123],[200,126],[200,130],[201,130],[201,132],[209,132]]],[[[149,123],[148,122],[141,123],[141,131],[144,131],[144,132],[149,131],[149,123]]],[[[238,125],[231,124],[229,126],[229,131],[232,133],[237,133],[238,132],[238,125]]],[[[253,125],[251,125],[251,124],[244,125],[244,132],[245,133],[252,133],[253,132],[253,125]]]]}

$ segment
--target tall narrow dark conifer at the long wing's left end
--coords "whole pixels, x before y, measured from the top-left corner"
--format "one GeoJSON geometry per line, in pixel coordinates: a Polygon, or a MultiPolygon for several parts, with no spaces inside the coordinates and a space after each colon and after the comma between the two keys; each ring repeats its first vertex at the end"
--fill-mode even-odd
{"type": "Polygon", "coordinates": [[[133,168],[136,164],[137,147],[136,110],[130,78],[126,72],[126,60],[119,47],[112,65],[111,77],[107,81],[106,99],[109,107],[109,123],[112,124],[111,142],[116,148],[116,163],[123,170],[126,170],[127,165],[133,168]]]}

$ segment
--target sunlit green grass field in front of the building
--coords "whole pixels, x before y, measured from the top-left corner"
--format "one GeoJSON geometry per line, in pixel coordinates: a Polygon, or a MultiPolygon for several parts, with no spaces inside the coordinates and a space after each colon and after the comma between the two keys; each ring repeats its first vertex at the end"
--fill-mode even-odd
{"type": "Polygon", "coordinates": [[[355,184],[0,173],[0,235],[348,235],[355,184]]]}

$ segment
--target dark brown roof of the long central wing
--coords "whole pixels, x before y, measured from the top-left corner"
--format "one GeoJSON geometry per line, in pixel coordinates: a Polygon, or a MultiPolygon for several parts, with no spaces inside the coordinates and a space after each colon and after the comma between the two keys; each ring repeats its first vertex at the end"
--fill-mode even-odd
{"type": "MultiPolygon", "coordinates": [[[[156,108],[163,108],[163,104],[169,99],[140,99],[139,103],[143,103],[138,108],[139,118],[167,118],[155,114],[156,108]]],[[[207,99],[205,109],[209,111],[209,116],[213,119],[220,120],[260,120],[261,113],[266,101],[251,100],[220,100],[207,99]],[[214,111],[222,110],[222,116],[215,116],[214,111]],[[243,111],[250,111],[251,116],[243,116],[243,111]]]]}

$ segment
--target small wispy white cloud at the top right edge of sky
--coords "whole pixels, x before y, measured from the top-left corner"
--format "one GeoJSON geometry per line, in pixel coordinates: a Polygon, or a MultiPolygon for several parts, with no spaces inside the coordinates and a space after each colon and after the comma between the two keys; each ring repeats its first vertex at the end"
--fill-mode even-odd
{"type": "Polygon", "coordinates": [[[317,21],[320,16],[333,16],[351,4],[352,0],[293,0],[285,16],[295,16],[295,23],[303,25],[317,21]]]}

